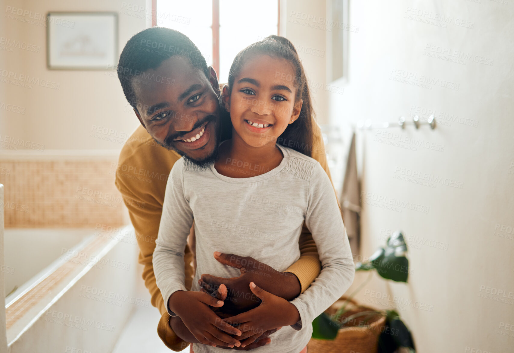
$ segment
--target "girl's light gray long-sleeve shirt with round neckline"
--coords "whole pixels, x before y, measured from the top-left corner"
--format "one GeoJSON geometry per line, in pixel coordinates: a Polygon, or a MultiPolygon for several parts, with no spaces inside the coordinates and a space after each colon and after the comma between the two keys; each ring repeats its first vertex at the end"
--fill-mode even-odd
{"type": "MultiPolygon", "coordinates": [[[[200,168],[180,158],[168,179],[153,266],[164,303],[175,291],[186,290],[183,253],[194,217],[197,268],[191,290],[200,289],[203,273],[240,275],[238,269],[216,261],[215,251],[251,256],[284,271],[300,258],[298,241],[305,220],[318,248],[321,273],[290,302],[300,321],[273,333],[270,344],[253,350],[297,353],[310,339],[311,322],[350,287],[355,268],[328,175],[314,158],[277,146],[284,155],[280,165],[249,178],[226,177],[214,163],[200,168]]],[[[168,312],[175,315],[169,308],[168,312]]],[[[200,344],[193,349],[226,352],[200,344]]]]}

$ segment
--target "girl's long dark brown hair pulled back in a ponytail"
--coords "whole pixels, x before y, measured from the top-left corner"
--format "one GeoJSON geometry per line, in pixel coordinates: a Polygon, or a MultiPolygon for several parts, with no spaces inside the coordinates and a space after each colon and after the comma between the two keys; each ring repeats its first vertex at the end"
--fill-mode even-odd
{"type": "Polygon", "coordinates": [[[295,69],[295,77],[293,78],[297,89],[295,99],[296,101],[298,101],[298,99],[303,100],[302,110],[300,111],[298,119],[290,123],[279,136],[277,143],[310,157],[313,151],[313,126],[316,123],[314,120],[313,105],[310,100],[309,85],[302,63],[300,62],[295,46],[287,38],[274,35],[268,36],[262,41],[253,43],[241,50],[234,58],[232,66],[230,66],[228,75],[229,94],[234,84],[234,79],[239,74],[245,59],[250,55],[259,54],[285,59],[289,61],[293,69],[295,69]]]}

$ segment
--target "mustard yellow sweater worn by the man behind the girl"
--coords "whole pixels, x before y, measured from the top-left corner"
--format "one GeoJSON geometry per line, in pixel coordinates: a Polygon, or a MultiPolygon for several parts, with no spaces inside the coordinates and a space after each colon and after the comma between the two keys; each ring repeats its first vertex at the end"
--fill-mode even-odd
{"type": "MultiPolygon", "coordinates": [[[[321,164],[330,178],[321,130],[316,123],[314,125],[315,138],[311,156],[321,164]]],[[[166,311],[166,303],[155,282],[152,254],[159,231],[168,175],[179,158],[179,154],[159,146],[150,134],[139,126],[125,142],[116,170],[116,187],[123,196],[136,231],[139,263],[144,266],[144,283],[150,291],[152,305],[157,307],[162,315],[157,332],[164,344],[175,351],[184,349],[189,343],[178,338],[169,325],[170,315],[166,311]]],[[[190,239],[194,239],[193,227],[190,239]]],[[[194,250],[194,241],[190,245],[194,250]]],[[[298,277],[303,292],[321,271],[316,244],[305,224],[299,247],[300,258],[286,272],[291,272],[298,277]]],[[[194,276],[194,255],[189,245],[186,245],[184,261],[186,288],[190,289],[194,276]]]]}

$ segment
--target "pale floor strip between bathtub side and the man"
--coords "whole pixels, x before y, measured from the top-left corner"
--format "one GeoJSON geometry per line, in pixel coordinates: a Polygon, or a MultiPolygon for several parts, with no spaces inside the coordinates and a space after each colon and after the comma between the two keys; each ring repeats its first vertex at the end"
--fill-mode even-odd
{"type": "MultiPolygon", "coordinates": [[[[159,319],[159,311],[153,306],[138,308],[125,326],[112,353],[172,352],[157,336],[159,319]]],[[[182,352],[189,352],[189,347],[182,352]]]]}

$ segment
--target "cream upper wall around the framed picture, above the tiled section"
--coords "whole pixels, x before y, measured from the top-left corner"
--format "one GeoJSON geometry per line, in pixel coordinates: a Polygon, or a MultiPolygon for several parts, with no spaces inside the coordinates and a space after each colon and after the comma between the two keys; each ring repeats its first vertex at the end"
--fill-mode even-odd
{"type": "Polygon", "coordinates": [[[144,7],[146,0],[4,1],[4,14],[12,15],[15,19],[3,15],[2,22],[6,30],[2,32],[2,37],[31,44],[31,48],[39,47],[39,52],[17,47],[12,48],[12,51],[3,50],[5,62],[0,68],[18,75],[30,75],[59,83],[60,88],[54,90],[34,85],[28,89],[2,83],[5,96],[2,96],[1,101],[21,107],[24,111],[24,114],[5,110],[1,112],[2,138],[10,136],[24,139],[44,145],[44,149],[121,149],[124,139],[130,136],[139,122],[132,110],[127,109],[116,72],[49,70],[46,66],[46,28],[44,20],[39,20],[38,16],[46,16],[49,11],[117,12],[119,56],[126,41],[146,28],[145,17],[149,16],[145,14],[151,14],[150,7],[137,12],[124,3],[144,7]],[[8,7],[29,13],[21,16],[12,14],[12,8],[8,11],[8,7]],[[109,134],[100,131],[91,136],[93,126],[116,132],[109,134]]]}

